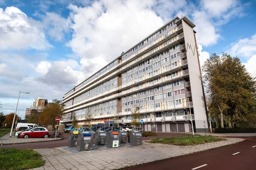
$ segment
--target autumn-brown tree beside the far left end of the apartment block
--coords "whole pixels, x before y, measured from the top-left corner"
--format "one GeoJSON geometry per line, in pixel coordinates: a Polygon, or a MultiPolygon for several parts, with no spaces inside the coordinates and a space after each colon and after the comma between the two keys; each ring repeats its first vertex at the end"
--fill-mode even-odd
{"type": "Polygon", "coordinates": [[[48,103],[44,110],[38,112],[38,123],[39,124],[55,124],[55,118],[60,117],[65,114],[64,113],[65,104],[61,102],[61,100],[54,99],[52,102],[48,103]]]}

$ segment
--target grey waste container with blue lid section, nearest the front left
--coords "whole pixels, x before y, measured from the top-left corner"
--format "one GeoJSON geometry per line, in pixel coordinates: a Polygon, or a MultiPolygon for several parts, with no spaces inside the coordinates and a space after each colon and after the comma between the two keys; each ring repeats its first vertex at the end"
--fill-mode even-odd
{"type": "Polygon", "coordinates": [[[93,131],[79,131],[76,150],[89,151],[93,149],[93,131]]]}

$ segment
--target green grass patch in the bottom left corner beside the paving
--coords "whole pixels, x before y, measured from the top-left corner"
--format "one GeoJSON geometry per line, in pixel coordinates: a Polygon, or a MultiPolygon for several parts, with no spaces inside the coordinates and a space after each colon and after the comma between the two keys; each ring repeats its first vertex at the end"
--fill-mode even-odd
{"type": "Polygon", "coordinates": [[[31,149],[0,149],[0,169],[33,169],[44,165],[41,155],[31,149]]]}

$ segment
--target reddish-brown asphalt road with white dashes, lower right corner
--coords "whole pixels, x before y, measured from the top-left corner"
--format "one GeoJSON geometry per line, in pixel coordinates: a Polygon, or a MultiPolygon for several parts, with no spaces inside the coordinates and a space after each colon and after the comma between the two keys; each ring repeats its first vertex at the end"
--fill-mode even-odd
{"type": "Polygon", "coordinates": [[[243,139],[246,141],[131,167],[129,170],[255,170],[256,137],[243,137],[243,139]]]}

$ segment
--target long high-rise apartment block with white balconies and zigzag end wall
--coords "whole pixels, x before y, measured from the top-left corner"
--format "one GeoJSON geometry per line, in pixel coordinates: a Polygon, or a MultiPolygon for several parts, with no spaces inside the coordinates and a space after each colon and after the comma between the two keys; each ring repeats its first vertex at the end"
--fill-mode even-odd
{"type": "Polygon", "coordinates": [[[186,16],[175,17],[63,97],[66,114],[85,124],[114,120],[129,126],[138,109],[146,131],[208,132],[196,36],[186,16]]]}

